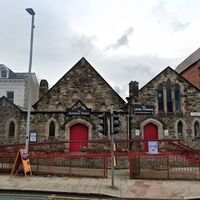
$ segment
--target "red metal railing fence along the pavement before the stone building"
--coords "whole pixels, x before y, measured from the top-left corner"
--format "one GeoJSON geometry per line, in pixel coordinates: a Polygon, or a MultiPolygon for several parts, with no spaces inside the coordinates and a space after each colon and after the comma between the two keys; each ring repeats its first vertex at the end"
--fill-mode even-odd
{"type": "MultiPolygon", "coordinates": [[[[33,174],[108,177],[110,140],[74,141],[80,152],[70,152],[70,142],[30,143],[33,174]]],[[[200,179],[200,154],[179,140],[157,140],[158,154],[145,152],[148,140],[115,140],[116,169],[129,169],[130,178],[200,179]]],[[[0,145],[0,171],[11,172],[24,144],[0,145]]],[[[23,172],[20,165],[19,172],[23,172]]]]}

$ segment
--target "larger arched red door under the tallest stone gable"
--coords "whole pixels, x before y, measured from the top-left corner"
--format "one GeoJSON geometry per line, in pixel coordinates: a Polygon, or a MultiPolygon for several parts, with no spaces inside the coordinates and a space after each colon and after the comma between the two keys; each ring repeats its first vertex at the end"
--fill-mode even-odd
{"type": "Polygon", "coordinates": [[[88,147],[88,127],[75,124],[70,128],[70,152],[79,152],[80,146],[88,147]],[[82,142],[76,142],[82,141],[82,142]],[[85,142],[83,142],[85,141],[85,142]]]}

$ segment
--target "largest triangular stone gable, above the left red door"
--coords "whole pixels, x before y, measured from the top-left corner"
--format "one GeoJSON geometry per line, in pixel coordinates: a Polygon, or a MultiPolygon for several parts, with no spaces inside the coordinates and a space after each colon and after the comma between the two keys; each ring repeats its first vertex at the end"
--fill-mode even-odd
{"type": "Polygon", "coordinates": [[[77,62],[33,107],[55,111],[58,105],[69,109],[80,100],[88,108],[99,110],[102,104],[124,106],[124,100],[112,89],[85,58],[77,62]]]}

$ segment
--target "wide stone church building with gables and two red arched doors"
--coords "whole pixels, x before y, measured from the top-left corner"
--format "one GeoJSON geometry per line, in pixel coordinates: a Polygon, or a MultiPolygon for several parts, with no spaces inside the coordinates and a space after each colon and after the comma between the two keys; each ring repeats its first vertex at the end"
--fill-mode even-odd
{"type": "MultiPolygon", "coordinates": [[[[51,89],[46,80],[40,82],[30,132],[37,133],[37,141],[102,139],[99,115],[113,106],[120,122],[117,139],[179,139],[200,149],[200,90],[175,70],[167,67],[141,89],[131,81],[126,99],[82,58],[51,89]]],[[[1,144],[25,142],[26,114],[6,97],[0,98],[1,144]]],[[[70,151],[79,148],[72,145],[70,151]]]]}

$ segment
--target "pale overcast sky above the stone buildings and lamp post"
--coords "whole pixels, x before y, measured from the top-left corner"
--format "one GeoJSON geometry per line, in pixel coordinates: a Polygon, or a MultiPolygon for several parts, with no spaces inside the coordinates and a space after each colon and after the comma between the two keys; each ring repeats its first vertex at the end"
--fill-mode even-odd
{"type": "Polygon", "coordinates": [[[82,57],[123,97],[200,47],[200,0],[0,0],[0,64],[52,87],[82,57]]]}

